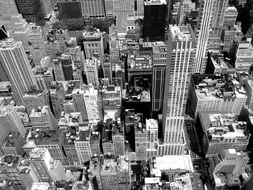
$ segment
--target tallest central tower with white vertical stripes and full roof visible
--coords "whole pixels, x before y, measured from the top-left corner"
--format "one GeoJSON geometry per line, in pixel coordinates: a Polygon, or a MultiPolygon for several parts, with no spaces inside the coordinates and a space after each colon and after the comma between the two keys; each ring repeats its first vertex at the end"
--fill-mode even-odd
{"type": "Polygon", "coordinates": [[[169,27],[168,64],[166,65],[163,102],[163,148],[160,155],[183,154],[184,113],[192,62],[195,55],[195,36],[190,25],[169,27]]]}

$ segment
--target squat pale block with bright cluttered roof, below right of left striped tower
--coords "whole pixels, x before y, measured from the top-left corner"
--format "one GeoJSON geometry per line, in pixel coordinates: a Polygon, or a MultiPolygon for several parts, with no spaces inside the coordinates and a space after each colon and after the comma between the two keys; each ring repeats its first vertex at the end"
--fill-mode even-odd
{"type": "Polygon", "coordinates": [[[58,122],[48,106],[33,108],[29,115],[30,122],[35,129],[42,131],[56,130],[58,122]]]}

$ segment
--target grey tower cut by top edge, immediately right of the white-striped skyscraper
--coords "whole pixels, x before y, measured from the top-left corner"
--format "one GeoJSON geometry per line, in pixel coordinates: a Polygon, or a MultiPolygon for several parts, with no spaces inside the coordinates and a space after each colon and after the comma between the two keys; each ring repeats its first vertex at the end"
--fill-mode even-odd
{"type": "Polygon", "coordinates": [[[228,6],[228,0],[216,0],[213,2],[211,18],[211,31],[208,40],[208,50],[220,50],[221,33],[224,23],[224,13],[228,6]]]}

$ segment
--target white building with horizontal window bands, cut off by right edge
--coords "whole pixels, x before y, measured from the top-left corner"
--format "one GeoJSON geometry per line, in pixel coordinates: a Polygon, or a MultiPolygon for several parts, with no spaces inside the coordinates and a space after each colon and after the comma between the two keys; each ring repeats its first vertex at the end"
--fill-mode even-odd
{"type": "Polygon", "coordinates": [[[241,41],[237,48],[235,69],[238,72],[247,72],[252,65],[253,58],[253,39],[248,38],[246,41],[241,41]]]}

